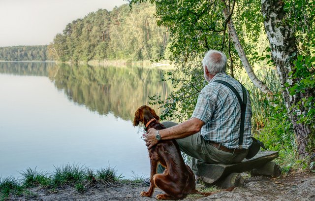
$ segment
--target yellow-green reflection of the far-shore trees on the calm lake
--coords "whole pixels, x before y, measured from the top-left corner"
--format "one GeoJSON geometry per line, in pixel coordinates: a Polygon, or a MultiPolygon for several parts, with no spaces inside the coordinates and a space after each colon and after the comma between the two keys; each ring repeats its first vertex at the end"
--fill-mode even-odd
{"type": "MultiPolygon", "coordinates": [[[[101,115],[132,120],[148,97],[166,98],[172,87],[160,82],[163,72],[147,67],[91,67],[55,63],[0,63],[0,73],[48,76],[69,100],[101,115]]],[[[159,111],[158,111],[159,113],[159,111]]]]}

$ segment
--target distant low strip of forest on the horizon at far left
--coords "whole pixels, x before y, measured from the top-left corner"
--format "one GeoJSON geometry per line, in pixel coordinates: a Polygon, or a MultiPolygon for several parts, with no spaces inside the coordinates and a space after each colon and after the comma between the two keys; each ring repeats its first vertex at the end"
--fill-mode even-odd
{"type": "Polygon", "coordinates": [[[47,61],[47,45],[0,47],[0,61],[47,61]]]}

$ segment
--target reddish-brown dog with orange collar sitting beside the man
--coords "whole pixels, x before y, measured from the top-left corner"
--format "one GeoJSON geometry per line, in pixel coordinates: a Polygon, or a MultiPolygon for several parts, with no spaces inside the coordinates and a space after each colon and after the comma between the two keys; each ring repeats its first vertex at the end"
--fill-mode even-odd
{"type": "MultiPolygon", "coordinates": [[[[146,125],[145,130],[154,128],[165,129],[159,123],[159,117],[151,107],[143,105],[137,109],[134,115],[133,126],[141,122],[146,125]]],[[[151,174],[150,187],[147,192],[141,192],[141,196],[152,197],[156,187],[166,194],[157,195],[161,200],[179,200],[188,194],[199,193],[205,196],[212,193],[200,193],[195,189],[195,178],[189,166],[187,166],[181,155],[179,146],[175,140],[161,140],[157,145],[149,149],[151,174]],[[166,169],[163,173],[157,173],[158,163],[166,169]]]]}

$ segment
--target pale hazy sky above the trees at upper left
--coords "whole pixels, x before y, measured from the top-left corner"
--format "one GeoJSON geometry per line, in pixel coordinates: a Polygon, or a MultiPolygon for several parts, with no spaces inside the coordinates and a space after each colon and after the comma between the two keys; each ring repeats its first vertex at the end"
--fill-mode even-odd
{"type": "Polygon", "coordinates": [[[0,0],[0,47],[47,45],[65,26],[126,0],[0,0]]]}

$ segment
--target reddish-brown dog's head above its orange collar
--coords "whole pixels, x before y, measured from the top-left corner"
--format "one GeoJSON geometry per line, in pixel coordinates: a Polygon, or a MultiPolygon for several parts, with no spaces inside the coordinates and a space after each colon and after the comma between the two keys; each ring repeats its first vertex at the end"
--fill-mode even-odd
{"type": "Polygon", "coordinates": [[[146,124],[152,118],[159,120],[156,111],[147,105],[142,105],[134,113],[133,126],[138,126],[140,122],[146,124]]]}

